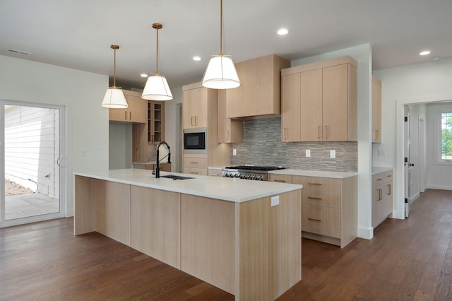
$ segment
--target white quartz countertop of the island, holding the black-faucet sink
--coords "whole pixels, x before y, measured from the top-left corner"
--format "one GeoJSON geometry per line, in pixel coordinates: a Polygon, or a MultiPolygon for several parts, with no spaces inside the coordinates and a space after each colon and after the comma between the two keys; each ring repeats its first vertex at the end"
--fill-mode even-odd
{"type": "Polygon", "coordinates": [[[241,203],[275,194],[301,189],[302,185],[277,182],[251,181],[249,179],[231,179],[224,177],[207,177],[179,174],[177,172],[160,172],[155,178],[150,170],[126,169],[105,170],[100,172],[74,172],[74,175],[92,177],[106,181],[131,184],[153,189],[174,191],[181,194],[204,196],[224,201],[241,203]],[[167,179],[162,175],[182,175],[193,179],[167,179]]]}

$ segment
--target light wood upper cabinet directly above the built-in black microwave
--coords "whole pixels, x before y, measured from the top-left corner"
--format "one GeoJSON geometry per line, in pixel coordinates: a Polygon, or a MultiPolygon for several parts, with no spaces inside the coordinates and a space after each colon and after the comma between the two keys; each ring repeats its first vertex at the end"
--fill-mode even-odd
{"type": "MultiPolygon", "coordinates": [[[[217,98],[217,90],[204,88],[200,83],[184,85],[182,119],[184,129],[207,127],[208,98],[217,98]]],[[[215,112],[217,114],[217,112],[215,112]]]]}

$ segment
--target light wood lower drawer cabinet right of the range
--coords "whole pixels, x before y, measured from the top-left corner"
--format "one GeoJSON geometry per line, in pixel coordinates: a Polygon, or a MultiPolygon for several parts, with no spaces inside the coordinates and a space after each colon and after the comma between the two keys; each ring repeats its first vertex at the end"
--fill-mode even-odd
{"type": "Polygon", "coordinates": [[[302,237],[341,248],[358,233],[357,177],[270,174],[270,181],[302,184],[302,237]]]}

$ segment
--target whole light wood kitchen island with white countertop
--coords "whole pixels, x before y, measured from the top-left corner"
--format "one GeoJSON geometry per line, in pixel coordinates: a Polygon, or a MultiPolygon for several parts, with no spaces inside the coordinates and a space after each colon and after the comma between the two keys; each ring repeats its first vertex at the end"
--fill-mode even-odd
{"type": "Polygon", "coordinates": [[[301,280],[302,185],[148,170],[75,173],[74,234],[100,232],[235,295],[301,280]]]}

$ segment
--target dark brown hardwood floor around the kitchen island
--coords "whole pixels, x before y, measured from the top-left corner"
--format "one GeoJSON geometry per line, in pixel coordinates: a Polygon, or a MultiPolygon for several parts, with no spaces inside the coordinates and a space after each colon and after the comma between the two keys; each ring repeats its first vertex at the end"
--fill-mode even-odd
{"type": "MultiPolygon", "coordinates": [[[[0,300],[234,300],[73,219],[0,229],[0,300]]],[[[452,191],[344,249],[302,240],[302,281],[278,300],[452,300],[452,191]]]]}

